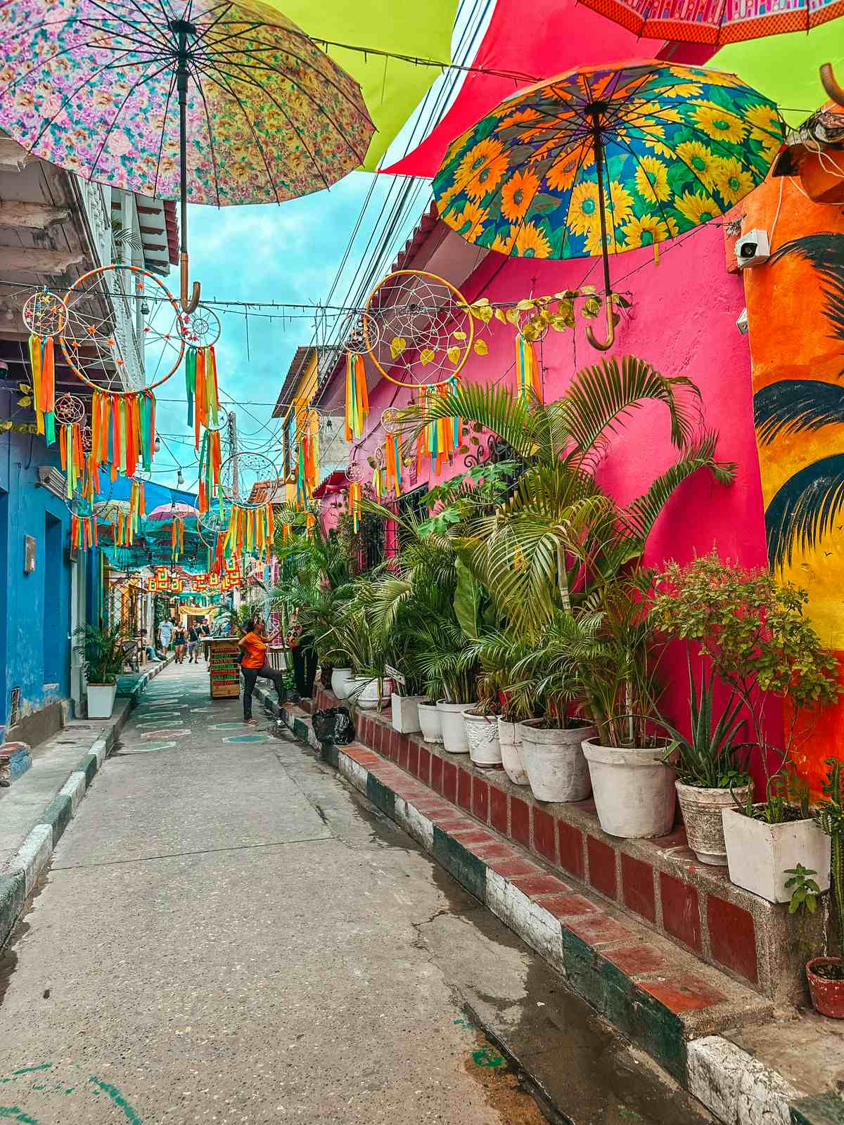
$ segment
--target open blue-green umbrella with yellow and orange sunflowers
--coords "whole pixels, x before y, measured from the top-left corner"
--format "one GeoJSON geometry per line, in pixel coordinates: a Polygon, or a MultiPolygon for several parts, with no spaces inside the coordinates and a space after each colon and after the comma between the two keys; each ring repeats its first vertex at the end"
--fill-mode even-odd
{"type": "Polygon", "coordinates": [[[520,258],[603,256],[728,210],[782,146],[774,102],[735,74],[659,62],[571,71],[521,90],[452,142],[434,179],[440,216],[520,258]]]}

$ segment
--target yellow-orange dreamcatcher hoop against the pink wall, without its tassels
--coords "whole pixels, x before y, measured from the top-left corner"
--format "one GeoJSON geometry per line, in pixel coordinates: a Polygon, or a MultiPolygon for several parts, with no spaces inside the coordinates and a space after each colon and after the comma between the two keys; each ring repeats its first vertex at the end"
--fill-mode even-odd
{"type": "Polygon", "coordinates": [[[466,366],[475,340],[475,322],[466,298],[450,281],[425,270],[395,270],[367,298],[363,339],[376,368],[395,386],[412,390],[440,387],[466,366]],[[398,351],[394,350],[394,341],[403,343],[398,351]],[[405,353],[413,353],[415,360],[403,360],[405,353]],[[397,368],[410,375],[416,366],[421,379],[396,378],[389,370],[397,368]],[[440,378],[425,377],[429,368],[440,378]]]}

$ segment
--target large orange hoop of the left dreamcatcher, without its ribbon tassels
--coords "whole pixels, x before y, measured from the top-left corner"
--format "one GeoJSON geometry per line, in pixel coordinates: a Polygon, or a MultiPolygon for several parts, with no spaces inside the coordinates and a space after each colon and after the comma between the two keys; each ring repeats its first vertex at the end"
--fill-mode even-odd
{"type": "MultiPolygon", "coordinates": [[[[185,354],[185,340],[179,331],[182,313],[176,298],[154,273],[140,266],[99,266],[73,282],[64,295],[64,305],[68,316],[59,335],[62,352],[77,378],[95,390],[123,397],[136,395],[160,387],[178,370],[185,354]],[[126,278],[134,281],[131,292],[127,291],[126,278]],[[146,300],[147,281],[160,290],[152,298],[152,308],[146,300]],[[137,315],[147,317],[143,328],[144,357],[147,351],[154,351],[156,345],[161,349],[156,369],[151,382],[142,381],[137,387],[119,389],[104,387],[101,382],[89,378],[83,363],[89,363],[99,371],[114,366],[119,372],[126,371],[132,364],[141,366],[141,353],[131,330],[126,327],[131,313],[129,302],[134,302],[137,315]],[[125,306],[120,306],[120,303],[125,303],[125,306]],[[126,333],[127,339],[122,341],[120,335],[126,336],[126,333]]],[[[145,375],[144,359],[142,379],[145,375]]]]}

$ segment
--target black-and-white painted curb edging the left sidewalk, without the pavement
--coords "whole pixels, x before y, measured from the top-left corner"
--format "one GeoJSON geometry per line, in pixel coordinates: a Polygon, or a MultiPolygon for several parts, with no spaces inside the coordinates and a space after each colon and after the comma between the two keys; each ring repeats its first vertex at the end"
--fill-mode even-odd
{"type": "Polygon", "coordinates": [[[88,786],[108,757],[108,752],[119,738],[126,721],[137,706],[143,691],[151,680],[163,672],[172,657],[150,668],[128,695],[118,699],[127,700],[128,705],[118,716],[114,726],[99,735],[91,745],[89,753],[82,758],[75,770],[70,771],[66,781],[44,810],[42,820],[37,824],[15,855],[8,861],[6,870],[0,874],[0,948],[17,925],[35,882],[44,867],[64,829],[75,814],[79,802],[86,795],[88,786]]]}

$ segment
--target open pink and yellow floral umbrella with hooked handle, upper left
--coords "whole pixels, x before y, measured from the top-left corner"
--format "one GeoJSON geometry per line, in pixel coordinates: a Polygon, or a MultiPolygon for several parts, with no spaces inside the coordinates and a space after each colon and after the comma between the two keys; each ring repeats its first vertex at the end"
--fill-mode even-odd
{"type": "Polygon", "coordinates": [[[7,0],[0,126],[84,179],[187,204],[282,202],[367,152],[360,89],[260,0],[7,0]]]}

